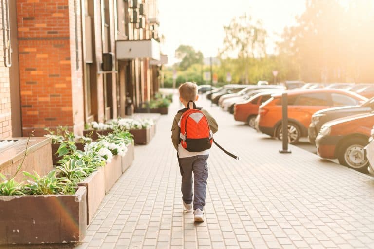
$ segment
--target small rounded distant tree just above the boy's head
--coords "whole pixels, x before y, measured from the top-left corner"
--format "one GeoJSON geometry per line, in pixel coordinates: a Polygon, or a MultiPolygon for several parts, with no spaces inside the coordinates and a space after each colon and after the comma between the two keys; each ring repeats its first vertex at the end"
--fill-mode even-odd
{"type": "Polygon", "coordinates": [[[179,69],[187,70],[193,64],[203,64],[203,53],[195,51],[195,49],[188,45],[180,45],[175,50],[175,58],[180,59],[179,69]]]}

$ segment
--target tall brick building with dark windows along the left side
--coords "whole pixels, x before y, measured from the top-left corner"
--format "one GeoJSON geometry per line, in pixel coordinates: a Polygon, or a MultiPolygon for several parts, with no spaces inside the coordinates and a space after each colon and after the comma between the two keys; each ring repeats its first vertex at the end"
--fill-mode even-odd
{"type": "Polygon", "coordinates": [[[138,106],[157,92],[162,64],[157,1],[9,4],[13,63],[6,67],[0,58],[0,139],[32,131],[39,136],[57,125],[82,134],[85,123],[124,116],[126,97],[138,106]],[[129,42],[135,42],[129,51],[136,53],[124,51],[129,42]]]}

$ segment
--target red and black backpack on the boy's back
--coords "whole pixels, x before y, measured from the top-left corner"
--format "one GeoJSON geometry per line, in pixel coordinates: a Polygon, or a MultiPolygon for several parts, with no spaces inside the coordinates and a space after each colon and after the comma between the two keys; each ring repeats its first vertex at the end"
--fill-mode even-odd
{"type": "Polygon", "coordinates": [[[181,144],[189,152],[199,152],[210,149],[213,143],[213,133],[210,130],[209,122],[204,113],[196,108],[193,103],[193,109],[183,109],[182,117],[179,121],[181,127],[181,144]]]}

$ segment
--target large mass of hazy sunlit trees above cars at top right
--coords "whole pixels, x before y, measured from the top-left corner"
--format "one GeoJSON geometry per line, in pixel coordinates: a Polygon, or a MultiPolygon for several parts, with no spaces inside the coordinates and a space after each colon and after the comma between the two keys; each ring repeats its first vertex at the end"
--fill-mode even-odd
{"type": "Polygon", "coordinates": [[[372,82],[374,4],[308,0],[279,43],[282,78],[309,82],[372,82]],[[370,6],[371,4],[371,6],[370,6]]]}

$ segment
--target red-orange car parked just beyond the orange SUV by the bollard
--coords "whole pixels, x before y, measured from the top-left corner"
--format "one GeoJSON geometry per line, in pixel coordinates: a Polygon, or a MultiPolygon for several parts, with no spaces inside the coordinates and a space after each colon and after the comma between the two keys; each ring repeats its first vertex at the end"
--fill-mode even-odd
{"type": "Polygon", "coordinates": [[[271,95],[276,92],[277,90],[262,91],[257,93],[256,95],[253,95],[245,102],[235,104],[234,119],[236,121],[245,122],[246,124],[254,128],[255,119],[257,114],[259,114],[260,105],[270,99],[271,95]]]}

